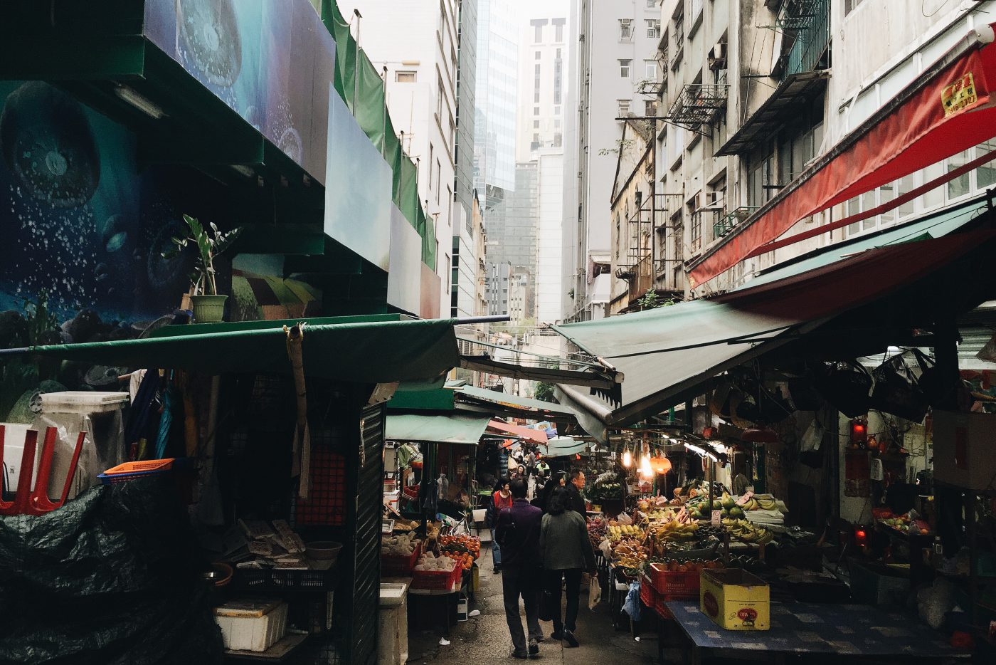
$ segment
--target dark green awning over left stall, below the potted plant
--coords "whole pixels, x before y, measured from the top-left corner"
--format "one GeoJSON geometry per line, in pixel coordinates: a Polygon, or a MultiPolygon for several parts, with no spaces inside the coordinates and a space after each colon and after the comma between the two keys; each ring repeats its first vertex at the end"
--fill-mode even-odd
{"type": "Polygon", "coordinates": [[[454,320],[400,320],[397,315],[166,326],[146,339],[5,349],[0,357],[33,355],[204,374],[288,374],[284,325],[299,322],[307,324],[302,342],[307,376],[390,383],[438,377],[459,362],[454,320]]]}

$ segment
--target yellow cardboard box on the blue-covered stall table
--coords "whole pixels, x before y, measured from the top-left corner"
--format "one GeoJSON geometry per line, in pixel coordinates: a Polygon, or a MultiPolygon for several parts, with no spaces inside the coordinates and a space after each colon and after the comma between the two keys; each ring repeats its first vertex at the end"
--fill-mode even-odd
{"type": "Polygon", "coordinates": [[[727,630],[768,630],[768,584],[741,568],[705,569],[699,580],[699,609],[727,630]]]}

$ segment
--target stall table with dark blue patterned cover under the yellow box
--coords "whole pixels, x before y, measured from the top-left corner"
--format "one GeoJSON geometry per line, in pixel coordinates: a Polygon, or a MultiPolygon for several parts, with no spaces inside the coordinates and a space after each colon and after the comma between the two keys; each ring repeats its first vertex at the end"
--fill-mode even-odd
{"type": "Polygon", "coordinates": [[[665,606],[687,637],[690,658],[686,660],[693,665],[702,662],[703,651],[709,656],[734,658],[756,651],[759,659],[773,658],[775,662],[801,654],[968,657],[918,620],[871,605],[772,602],[771,629],[757,631],[724,630],[699,611],[697,601],[671,601],[665,606]]]}

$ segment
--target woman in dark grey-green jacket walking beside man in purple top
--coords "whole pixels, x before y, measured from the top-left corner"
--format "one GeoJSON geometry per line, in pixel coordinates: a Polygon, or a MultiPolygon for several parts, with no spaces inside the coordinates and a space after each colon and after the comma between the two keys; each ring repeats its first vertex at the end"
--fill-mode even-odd
{"type": "Polygon", "coordinates": [[[588,537],[585,518],[571,509],[571,496],[557,488],[547,505],[540,529],[540,557],[546,571],[547,588],[553,594],[553,639],[564,640],[569,647],[578,646],[574,631],[578,620],[581,575],[589,570],[595,575],[595,551],[588,537]],[[567,581],[567,614],[561,620],[561,580],[567,581]]]}

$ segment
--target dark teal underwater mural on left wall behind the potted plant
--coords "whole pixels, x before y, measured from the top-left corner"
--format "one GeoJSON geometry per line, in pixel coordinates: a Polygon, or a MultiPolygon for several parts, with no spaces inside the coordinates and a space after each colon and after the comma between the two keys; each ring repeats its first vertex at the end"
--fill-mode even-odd
{"type": "MultiPolygon", "coordinates": [[[[49,83],[0,82],[0,346],[129,339],[171,320],[193,262],[162,252],[183,212],[224,223],[220,188],[189,168],[139,173],[124,126],[49,83]]],[[[118,370],[8,361],[0,420],[42,382],[108,390],[118,370]]]]}

